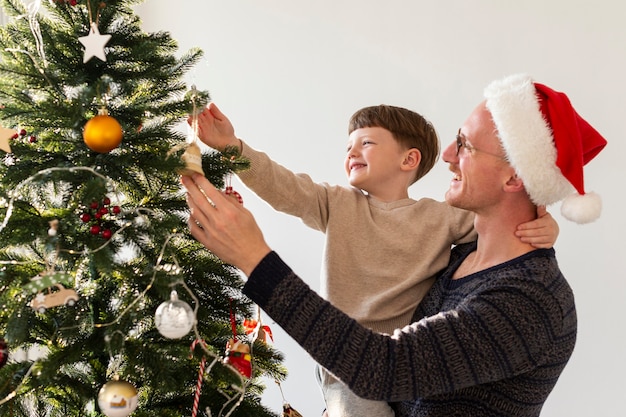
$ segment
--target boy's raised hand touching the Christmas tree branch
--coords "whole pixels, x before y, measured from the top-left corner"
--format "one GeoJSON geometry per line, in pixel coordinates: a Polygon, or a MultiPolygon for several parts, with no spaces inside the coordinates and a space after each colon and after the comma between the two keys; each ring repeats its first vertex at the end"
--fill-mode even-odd
{"type": "MultiPolygon", "coordinates": [[[[191,116],[187,123],[193,127],[191,116]]],[[[241,143],[235,136],[235,128],[215,103],[209,103],[198,115],[198,137],[204,144],[218,151],[223,151],[228,146],[236,146],[241,150],[241,143]]]]}

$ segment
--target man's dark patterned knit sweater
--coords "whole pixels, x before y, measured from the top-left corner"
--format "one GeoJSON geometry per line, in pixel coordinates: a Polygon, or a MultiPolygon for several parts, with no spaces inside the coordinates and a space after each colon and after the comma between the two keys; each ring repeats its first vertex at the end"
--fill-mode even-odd
{"type": "Polygon", "coordinates": [[[244,292],[359,396],[403,416],[538,416],[576,340],[572,291],[554,250],[538,249],[460,280],[450,267],[392,336],[319,297],[276,253],[244,292]]]}

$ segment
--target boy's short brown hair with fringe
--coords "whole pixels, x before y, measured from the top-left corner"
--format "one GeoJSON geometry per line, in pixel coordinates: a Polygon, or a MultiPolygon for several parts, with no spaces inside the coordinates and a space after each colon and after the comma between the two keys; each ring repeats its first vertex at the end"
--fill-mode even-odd
{"type": "Polygon", "coordinates": [[[407,149],[417,148],[422,154],[413,183],[428,173],[439,157],[439,138],[434,126],[420,114],[395,106],[381,104],[357,110],[350,118],[348,134],[365,127],[382,127],[407,149]]]}

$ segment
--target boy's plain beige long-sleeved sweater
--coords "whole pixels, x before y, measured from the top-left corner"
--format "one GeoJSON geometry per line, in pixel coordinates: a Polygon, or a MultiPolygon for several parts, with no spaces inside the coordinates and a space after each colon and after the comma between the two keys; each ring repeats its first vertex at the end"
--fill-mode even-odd
{"type": "Polygon", "coordinates": [[[452,244],[476,239],[473,214],[429,198],[383,203],[315,183],[242,142],[246,186],[274,209],[326,234],[321,295],[358,322],[392,333],[410,323],[452,244]]]}

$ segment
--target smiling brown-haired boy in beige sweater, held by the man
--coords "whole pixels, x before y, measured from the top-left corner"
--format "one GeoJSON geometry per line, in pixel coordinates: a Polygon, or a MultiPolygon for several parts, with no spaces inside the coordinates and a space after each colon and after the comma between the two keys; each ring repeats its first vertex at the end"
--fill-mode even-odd
{"type": "MultiPolygon", "coordinates": [[[[250,160],[239,173],[246,186],[326,233],[322,295],[377,332],[409,324],[451,246],[476,239],[471,213],[409,198],[408,187],[439,155],[434,127],[413,111],[380,105],[351,117],[344,165],[352,187],[314,183],[273,162],[238,139],[214,103],[198,116],[198,136],[217,150],[238,147],[250,160]]],[[[537,247],[552,246],[558,234],[549,215],[525,227],[537,247]]],[[[394,415],[387,403],[357,397],[322,368],[319,378],[330,417],[394,415]]]]}

